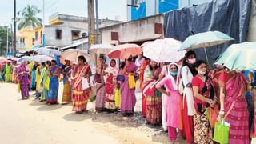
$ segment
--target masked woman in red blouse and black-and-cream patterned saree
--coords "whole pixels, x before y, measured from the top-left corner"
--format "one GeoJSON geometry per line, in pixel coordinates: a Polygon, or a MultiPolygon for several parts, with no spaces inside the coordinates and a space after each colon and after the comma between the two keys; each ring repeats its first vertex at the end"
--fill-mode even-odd
{"type": "Polygon", "coordinates": [[[206,117],[206,108],[214,108],[217,97],[211,79],[206,75],[206,62],[195,63],[198,74],[192,80],[194,92],[194,143],[213,143],[210,122],[206,117]]]}

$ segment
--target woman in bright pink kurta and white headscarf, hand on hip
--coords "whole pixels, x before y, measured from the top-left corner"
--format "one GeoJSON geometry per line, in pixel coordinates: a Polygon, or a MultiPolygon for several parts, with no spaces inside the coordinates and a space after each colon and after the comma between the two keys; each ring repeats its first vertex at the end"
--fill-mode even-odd
{"type": "Polygon", "coordinates": [[[166,122],[168,136],[171,141],[174,141],[177,139],[176,129],[182,129],[182,105],[181,95],[178,91],[178,64],[172,62],[168,67],[169,74],[158,82],[156,88],[162,94],[166,94],[166,119],[162,119],[162,121],[166,122]],[[166,86],[166,90],[162,89],[162,86],[166,86]]]}

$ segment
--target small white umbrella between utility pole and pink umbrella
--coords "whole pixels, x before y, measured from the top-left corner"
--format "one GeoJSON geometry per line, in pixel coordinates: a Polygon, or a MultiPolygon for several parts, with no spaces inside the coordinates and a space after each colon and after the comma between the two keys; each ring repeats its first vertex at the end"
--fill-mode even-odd
{"type": "Polygon", "coordinates": [[[108,54],[115,46],[110,44],[96,44],[90,46],[89,52],[94,54],[108,54]]]}

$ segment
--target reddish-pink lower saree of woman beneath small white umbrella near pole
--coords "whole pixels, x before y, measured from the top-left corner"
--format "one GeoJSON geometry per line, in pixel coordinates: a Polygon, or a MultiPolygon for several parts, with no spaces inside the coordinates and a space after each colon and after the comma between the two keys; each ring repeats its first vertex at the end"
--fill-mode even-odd
{"type": "MultiPolygon", "coordinates": [[[[101,85],[102,85],[101,83],[96,83],[97,88],[101,85]]],[[[96,110],[104,110],[105,99],[106,99],[106,89],[104,85],[100,89],[98,89],[96,92],[96,106],[95,106],[96,110]]]]}

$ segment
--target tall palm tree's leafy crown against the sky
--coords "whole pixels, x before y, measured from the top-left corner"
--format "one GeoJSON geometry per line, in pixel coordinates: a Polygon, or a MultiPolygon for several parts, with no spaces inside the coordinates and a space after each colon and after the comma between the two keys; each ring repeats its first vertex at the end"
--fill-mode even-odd
{"type": "Polygon", "coordinates": [[[18,30],[25,28],[26,26],[37,27],[42,25],[42,19],[36,15],[41,10],[37,6],[27,5],[22,11],[18,12],[18,30]]]}

